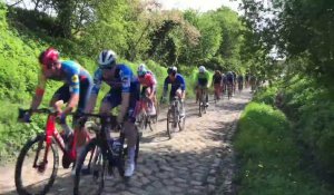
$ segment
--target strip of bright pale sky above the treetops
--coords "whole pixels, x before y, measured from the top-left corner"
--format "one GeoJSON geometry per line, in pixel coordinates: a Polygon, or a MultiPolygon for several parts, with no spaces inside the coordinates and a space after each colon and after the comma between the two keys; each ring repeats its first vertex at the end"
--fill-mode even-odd
{"type": "Polygon", "coordinates": [[[234,11],[238,11],[240,0],[157,0],[163,4],[163,9],[195,9],[199,11],[216,10],[222,6],[226,6],[234,11]]]}

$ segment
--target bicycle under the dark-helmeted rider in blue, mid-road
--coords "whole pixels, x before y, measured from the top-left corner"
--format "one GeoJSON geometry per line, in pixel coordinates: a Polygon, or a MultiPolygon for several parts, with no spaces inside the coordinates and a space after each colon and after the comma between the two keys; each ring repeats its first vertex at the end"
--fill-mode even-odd
{"type": "Polygon", "coordinates": [[[167,111],[167,136],[169,139],[171,139],[171,134],[177,127],[179,131],[185,129],[186,116],[180,116],[180,98],[175,96],[171,99],[167,111]]]}

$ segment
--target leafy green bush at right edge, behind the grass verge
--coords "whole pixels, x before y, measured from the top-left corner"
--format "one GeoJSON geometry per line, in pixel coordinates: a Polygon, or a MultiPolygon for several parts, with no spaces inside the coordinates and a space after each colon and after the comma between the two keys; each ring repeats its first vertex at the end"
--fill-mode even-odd
{"type": "Polygon", "coordinates": [[[324,170],[333,174],[333,94],[313,79],[293,77],[285,86],[283,110],[295,121],[297,138],[324,170]]]}

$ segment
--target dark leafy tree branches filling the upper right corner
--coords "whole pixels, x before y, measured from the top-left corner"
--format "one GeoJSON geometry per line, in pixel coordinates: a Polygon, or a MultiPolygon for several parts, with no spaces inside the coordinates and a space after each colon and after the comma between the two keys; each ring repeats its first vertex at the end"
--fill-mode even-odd
{"type": "MultiPolygon", "coordinates": [[[[334,3],[327,0],[244,0],[248,38],[264,52],[286,60],[304,58],[302,67],[289,70],[312,76],[333,89],[334,3]],[[257,43],[256,43],[257,42],[257,43]]],[[[332,90],[331,89],[331,90],[332,90]]]]}

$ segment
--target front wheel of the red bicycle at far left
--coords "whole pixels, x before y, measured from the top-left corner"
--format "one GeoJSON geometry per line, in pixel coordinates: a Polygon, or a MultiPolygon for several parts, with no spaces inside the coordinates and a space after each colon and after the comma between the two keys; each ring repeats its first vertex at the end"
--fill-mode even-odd
{"type": "Polygon", "coordinates": [[[20,195],[47,194],[53,185],[59,156],[57,147],[51,144],[47,156],[48,163],[42,163],[47,145],[45,139],[46,135],[38,135],[28,140],[20,152],[14,175],[17,192],[20,195]]]}

